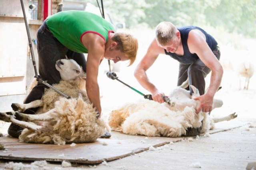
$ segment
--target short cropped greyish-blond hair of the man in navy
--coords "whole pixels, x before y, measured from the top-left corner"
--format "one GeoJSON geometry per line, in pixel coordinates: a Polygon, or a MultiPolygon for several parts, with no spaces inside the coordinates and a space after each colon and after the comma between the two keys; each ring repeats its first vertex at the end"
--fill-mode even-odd
{"type": "Polygon", "coordinates": [[[156,26],[156,41],[158,45],[166,45],[176,37],[177,28],[171,22],[160,22],[156,26]]]}

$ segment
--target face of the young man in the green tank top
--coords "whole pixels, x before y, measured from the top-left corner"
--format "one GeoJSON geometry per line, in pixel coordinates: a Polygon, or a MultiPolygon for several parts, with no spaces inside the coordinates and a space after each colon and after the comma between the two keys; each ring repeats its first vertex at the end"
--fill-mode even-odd
{"type": "Polygon", "coordinates": [[[104,58],[112,60],[114,63],[128,60],[124,53],[122,53],[120,50],[114,49],[113,47],[110,47],[105,51],[104,58]]]}

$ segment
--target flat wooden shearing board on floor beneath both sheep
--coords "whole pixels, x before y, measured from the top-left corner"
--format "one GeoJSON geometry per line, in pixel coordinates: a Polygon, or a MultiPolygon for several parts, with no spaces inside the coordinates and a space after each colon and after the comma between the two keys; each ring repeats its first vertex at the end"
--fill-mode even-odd
{"type": "MultiPolygon", "coordinates": [[[[244,125],[244,123],[243,123],[244,125]]],[[[218,133],[242,126],[241,123],[229,127],[218,127],[209,133],[218,133]]],[[[46,160],[51,162],[62,162],[63,160],[72,163],[97,164],[108,162],[139,152],[152,147],[160,147],[170,142],[178,142],[188,137],[145,137],[132,136],[123,133],[112,132],[110,139],[98,139],[94,143],[84,144],[36,144],[21,143],[16,138],[0,137],[0,143],[4,144],[5,150],[0,150],[0,159],[35,161],[46,160]]]]}

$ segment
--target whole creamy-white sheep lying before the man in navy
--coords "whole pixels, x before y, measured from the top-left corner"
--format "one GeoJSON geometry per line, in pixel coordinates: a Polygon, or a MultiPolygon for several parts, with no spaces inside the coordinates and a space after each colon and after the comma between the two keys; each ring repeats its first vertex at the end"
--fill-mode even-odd
{"type": "MultiPolygon", "coordinates": [[[[192,89],[192,99],[188,90],[181,87],[174,89],[169,96],[171,106],[153,100],[126,104],[110,113],[109,125],[114,131],[130,135],[180,137],[186,135],[188,128],[201,126],[201,133],[206,133],[213,127],[214,119],[202,111],[196,114],[199,101],[193,98],[199,96],[199,92],[194,86],[192,89]]],[[[214,99],[212,108],[221,106],[222,101],[214,99]]],[[[234,119],[236,116],[233,113],[218,121],[234,119]]]]}

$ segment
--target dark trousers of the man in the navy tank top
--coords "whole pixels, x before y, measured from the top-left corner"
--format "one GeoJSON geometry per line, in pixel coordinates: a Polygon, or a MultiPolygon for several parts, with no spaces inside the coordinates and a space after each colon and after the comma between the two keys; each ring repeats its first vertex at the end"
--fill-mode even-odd
{"type": "MultiPolygon", "coordinates": [[[[220,60],[220,51],[218,49],[218,46],[216,47],[216,50],[212,52],[214,53],[216,58],[220,60]]],[[[207,76],[207,74],[210,73],[210,71],[210,68],[208,68],[200,59],[197,59],[192,64],[180,63],[177,85],[180,86],[188,78],[189,87],[186,88],[186,90],[190,90],[190,93],[192,94],[192,89],[190,88],[190,85],[193,85],[199,90],[200,95],[202,95],[205,93],[204,78],[207,76]]]]}

